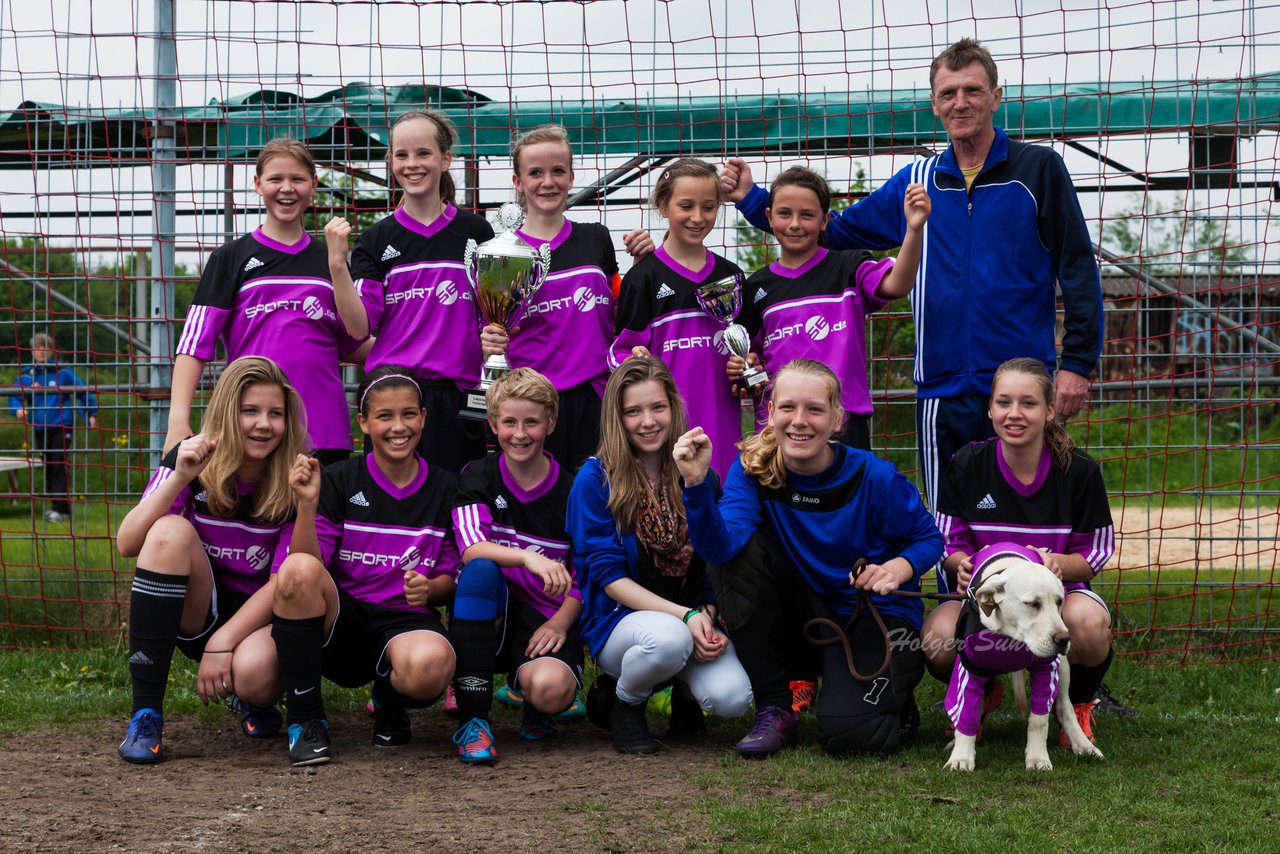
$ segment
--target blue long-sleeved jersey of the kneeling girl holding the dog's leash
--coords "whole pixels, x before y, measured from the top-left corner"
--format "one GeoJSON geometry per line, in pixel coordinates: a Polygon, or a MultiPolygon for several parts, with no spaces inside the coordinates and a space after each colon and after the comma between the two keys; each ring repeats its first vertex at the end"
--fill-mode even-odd
{"type": "MultiPolygon", "coordinates": [[[[760,524],[768,524],[800,576],[840,615],[851,615],[858,589],[849,572],[860,557],[883,563],[906,558],[914,570],[902,590],[919,590],[923,575],[942,554],[942,534],[916,492],[893,463],[847,446],[835,446],[836,461],[818,475],[787,472],[782,489],[764,489],[742,470],[728,471],[724,495],[716,502],[708,481],[685,488],[689,536],[708,563],[736,556],[760,524]]],[[[872,595],[883,616],[916,629],[920,599],[872,595]]]]}

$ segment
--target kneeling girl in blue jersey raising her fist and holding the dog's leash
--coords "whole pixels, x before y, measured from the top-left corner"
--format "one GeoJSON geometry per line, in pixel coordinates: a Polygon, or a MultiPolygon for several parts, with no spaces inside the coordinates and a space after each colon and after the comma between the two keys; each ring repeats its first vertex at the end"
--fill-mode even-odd
{"type": "MultiPolygon", "coordinates": [[[[924,673],[916,632],[919,599],[888,595],[919,590],[920,575],[942,552],[942,536],[920,495],[892,463],[836,444],[840,380],[810,360],[787,364],[774,378],[769,426],[741,443],[724,495],[708,483],[710,438],[700,428],[680,437],[676,463],[694,548],[717,571],[717,595],[730,636],[755,693],[755,726],[737,743],[744,757],[764,757],[796,741],[788,672],[806,648],[812,617],[836,621],[847,635],[854,666],[869,673],[892,657],[882,676],[859,681],[840,644],[822,654],[818,737],[832,754],[887,754],[914,734],[913,691],[924,673]],[[850,572],[859,558],[868,565],[850,572]],[[869,594],[888,627],[879,636],[869,594]]],[[[801,672],[817,665],[809,652],[801,672]]]]}

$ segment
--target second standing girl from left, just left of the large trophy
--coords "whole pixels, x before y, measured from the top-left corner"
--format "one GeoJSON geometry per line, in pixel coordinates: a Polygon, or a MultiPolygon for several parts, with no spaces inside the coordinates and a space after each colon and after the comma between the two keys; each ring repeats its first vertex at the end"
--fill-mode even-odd
{"type": "Polygon", "coordinates": [[[365,369],[403,365],[422,383],[428,420],[419,452],[454,474],[484,456],[480,425],[462,424],[463,392],[480,380],[480,314],[462,256],[467,241],[493,238],[483,216],[453,205],[449,175],[457,131],[443,114],[411,110],[392,125],[387,159],[401,205],[356,241],[326,229],[334,282],[355,280],[374,335],[365,369]]]}

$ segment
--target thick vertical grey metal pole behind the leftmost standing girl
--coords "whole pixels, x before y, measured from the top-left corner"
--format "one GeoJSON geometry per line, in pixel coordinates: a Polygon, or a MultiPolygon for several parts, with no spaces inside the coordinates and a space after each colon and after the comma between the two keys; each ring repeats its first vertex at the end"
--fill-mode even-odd
{"type": "MultiPolygon", "coordinates": [[[[151,239],[150,334],[151,388],[168,388],[173,347],[169,323],[174,314],[173,275],[177,241],[177,160],[178,41],[174,29],[174,0],[155,0],[155,118],[151,134],[151,191],[155,196],[155,233],[151,239]]],[[[168,399],[152,398],[148,448],[151,465],[160,458],[169,429],[168,399]]]]}

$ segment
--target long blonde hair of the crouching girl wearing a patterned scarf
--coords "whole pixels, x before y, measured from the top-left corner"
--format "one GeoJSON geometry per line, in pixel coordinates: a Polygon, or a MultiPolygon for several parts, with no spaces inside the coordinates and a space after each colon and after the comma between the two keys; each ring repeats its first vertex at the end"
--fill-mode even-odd
{"type": "MultiPolygon", "coordinates": [[[[648,479],[635,460],[635,451],[631,448],[631,439],[627,429],[622,424],[622,396],[632,385],[655,382],[667,394],[667,403],[671,406],[671,430],[667,433],[667,442],[662,447],[663,476],[667,479],[669,494],[680,494],[680,476],[675,463],[671,461],[671,452],[676,448],[676,439],[689,430],[689,421],[685,417],[685,399],[676,389],[676,380],[671,370],[660,359],[654,356],[632,356],[609,376],[608,385],[604,387],[604,401],[600,403],[600,447],[595,456],[604,467],[604,475],[609,480],[609,513],[617,520],[618,526],[625,531],[634,531],[636,517],[640,513],[640,499],[649,489],[648,479]],[[669,465],[668,465],[669,463],[669,465]]],[[[684,502],[673,502],[676,512],[685,513],[684,502]]]]}

